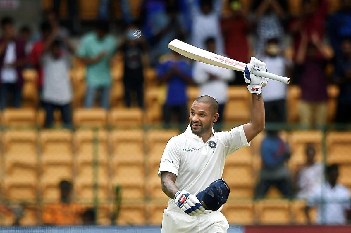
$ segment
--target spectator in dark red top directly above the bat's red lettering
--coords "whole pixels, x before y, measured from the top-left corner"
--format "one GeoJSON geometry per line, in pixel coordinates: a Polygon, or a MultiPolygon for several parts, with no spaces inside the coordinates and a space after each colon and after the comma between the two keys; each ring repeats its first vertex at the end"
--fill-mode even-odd
{"type": "MultiPolygon", "coordinates": [[[[225,53],[234,60],[250,63],[248,40],[250,31],[249,22],[244,15],[243,7],[239,0],[230,0],[228,4],[231,9],[231,16],[221,21],[225,53]]],[[[235,71],[235,73],[236,76],[242,76],[242,72],[240,71],[235,71]]],[[[242,78],[238,78],[235,81],[236,84],[245,84],[245,80],[242,78]]]]}

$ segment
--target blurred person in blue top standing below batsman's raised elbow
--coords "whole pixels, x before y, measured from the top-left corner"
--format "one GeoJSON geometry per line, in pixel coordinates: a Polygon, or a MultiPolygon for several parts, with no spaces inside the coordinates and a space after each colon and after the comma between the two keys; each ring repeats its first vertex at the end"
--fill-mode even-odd
{"type": "Polygon", "coordinates": [[[261,142],[262,168],[260,180],[256,185],[254,198],[264,198],[274,185],[284,198],[292,198],[292,182],[289,168],[284,164],[290,158],[290,150],[277,131],[268,130],[261,142]]]}

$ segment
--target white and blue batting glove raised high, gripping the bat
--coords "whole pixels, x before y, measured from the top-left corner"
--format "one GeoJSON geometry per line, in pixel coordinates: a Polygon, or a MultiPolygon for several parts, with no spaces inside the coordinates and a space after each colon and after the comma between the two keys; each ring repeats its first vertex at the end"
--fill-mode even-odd
{"type": "Polygon", "coordinates": [[[253,70],[267,71],[266,63],[261,62],[256,57],[251,57],[250,63],[246,64],[244,70],[245,82],[250,84],[247,86],[247,89],[253,94],[261,94],[262,87],[267,86],[268,80],[264,77],[254,75],[252,73],[253,70]]]}

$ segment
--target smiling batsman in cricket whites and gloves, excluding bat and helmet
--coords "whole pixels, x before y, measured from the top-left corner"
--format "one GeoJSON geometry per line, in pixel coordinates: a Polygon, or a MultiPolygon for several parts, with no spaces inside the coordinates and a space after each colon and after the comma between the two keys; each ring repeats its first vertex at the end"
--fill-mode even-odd
{"type": "Polygon", "coordinates": [[[249,146],[264,129],[261,92],[267,81],[253,75],[254,69],[265,71],[266,64],[251,57],[251,63],[245,68],[245,82],[250,83],[248,89],[252,93],[250,123],[213,133],[213,123],[219,117],[218,103],[210,96],[200,96],[190,108],[188,128],[168,141],[158,171],[162,190],[170,197],[161,233],[227,232],[229,224],[219,212],[221,207],[217,211],[205,210],[195,195],[221,178],[229,154],[249,146]]]}

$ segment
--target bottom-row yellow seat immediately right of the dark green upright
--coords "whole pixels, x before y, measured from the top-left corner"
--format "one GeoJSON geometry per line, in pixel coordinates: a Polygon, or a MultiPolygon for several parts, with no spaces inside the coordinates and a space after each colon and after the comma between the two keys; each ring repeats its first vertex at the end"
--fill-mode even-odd
{"type": "Polygon", "coordinates": [[[116,219],[117,224],[120,226],[144,225],[146,223],[145,211],[144,203],[122,203],[116,219]]]}

